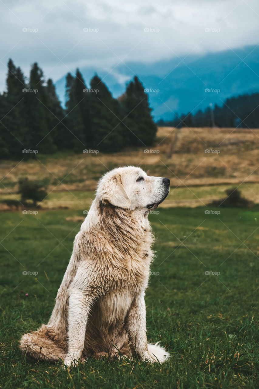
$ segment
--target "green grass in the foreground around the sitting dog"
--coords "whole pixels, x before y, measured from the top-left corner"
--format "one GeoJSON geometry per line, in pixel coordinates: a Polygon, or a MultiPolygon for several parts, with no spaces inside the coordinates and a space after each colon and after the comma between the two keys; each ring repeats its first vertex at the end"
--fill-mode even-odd
{"type": "Polygon", "coordinates": [[[22,356],[18,340],[49,319],[80,228],[66,218],[82,209],[2,213],[1,388],[259,387],[259,210],[205,209],[158,208],[150,216],[151,270],[159,275],[146,293],[147,337],[165,345],[170,360],[91,359],[69,372],[22,356]]]}

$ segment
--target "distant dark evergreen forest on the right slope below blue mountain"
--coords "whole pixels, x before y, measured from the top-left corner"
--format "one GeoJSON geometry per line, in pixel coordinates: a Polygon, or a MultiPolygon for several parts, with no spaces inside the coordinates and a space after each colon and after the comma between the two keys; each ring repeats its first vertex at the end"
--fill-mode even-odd
{"type": "MultiPolygon", "coordinates": [[[[178,116],[176,114],[176,116],[178,116]]],[[[233,127],[259,128],[259,93],[231,97],[223,107],[215,104],[214,109],[208,107],[195,114],[183,114],[172,121],[159,120],[160,126],[173,127],[233,127]]]]}

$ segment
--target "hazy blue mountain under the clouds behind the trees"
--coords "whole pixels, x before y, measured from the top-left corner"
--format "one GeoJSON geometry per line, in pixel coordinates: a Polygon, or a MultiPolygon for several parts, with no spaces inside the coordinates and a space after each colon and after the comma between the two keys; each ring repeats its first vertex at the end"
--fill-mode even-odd
{"type": "MultiPolygon", "coordinates": [[[[114,69],[80,68],[87,86],[94,74],[119,97],[136,74],[149,94],[155,120],[173,119],[173,113],[197,112],[209,103],[243,93],[259,91],[259,46],[234,51],[189,55],[155,63],[119,63],[114,69]],[[207,89],[207,91],[205,91],[207,89]]],[[[57,94],[65,102],[65,76],[56,82],[57,94]]]]}

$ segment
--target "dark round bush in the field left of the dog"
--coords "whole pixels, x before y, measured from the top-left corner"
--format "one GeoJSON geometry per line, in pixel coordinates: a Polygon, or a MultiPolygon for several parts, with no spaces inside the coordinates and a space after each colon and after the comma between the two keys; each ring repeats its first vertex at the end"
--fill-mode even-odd
{"type": "Polygon", "coordinates": [[[30,181],[27,177],[19,180],[19,191],[21,194],[21,202],[26,203],[27,200],[32,200],[33,205],[44,200],[47,196],[46,187],[37,181],[30,181]]]}

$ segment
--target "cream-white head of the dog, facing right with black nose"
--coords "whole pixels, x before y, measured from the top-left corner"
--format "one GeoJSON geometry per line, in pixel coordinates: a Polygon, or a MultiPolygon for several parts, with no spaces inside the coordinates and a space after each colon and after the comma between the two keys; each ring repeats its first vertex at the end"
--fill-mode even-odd
{"type": "Polygon", "coordinates": [[[148,176],[135,166],[117,168],[99,181],[97,197],[124,209],[156,209],[169,193],[170,180],[148,176]]]}

